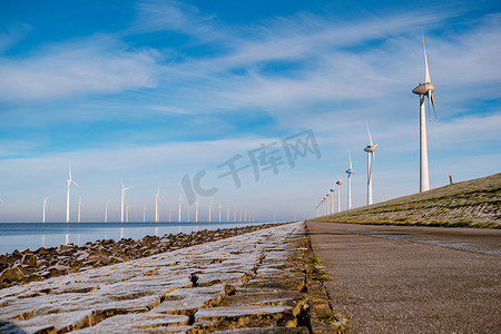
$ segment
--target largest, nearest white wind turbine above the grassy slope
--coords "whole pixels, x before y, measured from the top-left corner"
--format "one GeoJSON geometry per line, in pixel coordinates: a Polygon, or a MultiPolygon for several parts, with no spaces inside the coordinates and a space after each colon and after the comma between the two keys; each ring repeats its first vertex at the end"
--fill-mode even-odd
{"type": "MultiPolygon", "coordinates": [[[[428,109],[431,114],[430,101],[435,112],[435,102],[433,101],[433,91],[435,86],[431,84],[430,70],[428,68],[426,48],[424,47],[424,84],[420,84],[412,92],[420,96],[420,193],[430,190],[430,174],[428,169],[428,144],[426,144],[426,111],[424,107],[424,97],[428,97],[428,109]]],[[[435,112],[436,118],[436,112],[435,112]]]]}

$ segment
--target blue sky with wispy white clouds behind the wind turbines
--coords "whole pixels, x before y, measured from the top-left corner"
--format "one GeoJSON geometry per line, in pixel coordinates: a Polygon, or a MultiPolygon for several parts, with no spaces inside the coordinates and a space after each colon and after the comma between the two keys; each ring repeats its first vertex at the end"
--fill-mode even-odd
{"type": "Polygon", "coordinates": [[[345,177],[348,150],[362,206],[366,122],[380,145],[374,200],[416,193],[422,28],[439,116],[431,187],[499,173],[499,2],[353,2],[1,0],[0,222],[40,220],[43,196],[47,220],[62,222],[69,163],[71,220],[79,197],[84,220],[102,220],[107,199],[118,220],[120,178],[130,220],[144,207],[153,219],[157,187],[167,220],[183,177],[204,169],[218,191],[198,198],[200,217],[213,202],[306,218],[345,177]],[[239,188],[218,177],[232,157],[250,166],[250,150],[305,130],[321,158],[258,180],[249,167],[239,188]]]}

